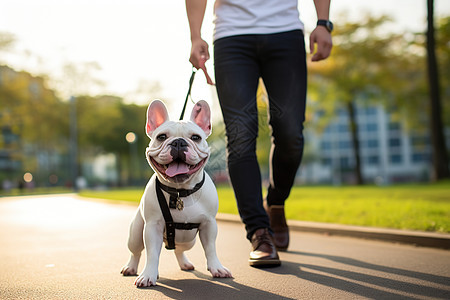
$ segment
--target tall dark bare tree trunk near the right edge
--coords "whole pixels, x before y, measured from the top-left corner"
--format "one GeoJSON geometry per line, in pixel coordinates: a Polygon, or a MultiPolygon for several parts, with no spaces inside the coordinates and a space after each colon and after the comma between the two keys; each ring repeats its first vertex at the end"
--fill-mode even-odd
{"type": "Polygon", "coordinates": [[[430,131],[433,145],[433,178],[435,180],[449,178],[449,160],[442,123],[441,93],[439,87],[439,72],[437,67],[435,36],[434,36],[434,1],[427,0],[427,66],[428,84],[430,89],[430,131]]]}

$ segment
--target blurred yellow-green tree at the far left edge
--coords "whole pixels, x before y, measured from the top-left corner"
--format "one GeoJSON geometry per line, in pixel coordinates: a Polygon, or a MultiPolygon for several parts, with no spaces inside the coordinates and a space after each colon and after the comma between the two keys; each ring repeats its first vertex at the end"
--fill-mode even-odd
{"type": "Polygon", "coordinates": [[[37,175],[37,181],[45,183],[49,173],[57,168],[50,158],[56,152],[67,151],[66,106],[42,77],[7,66],[0,66],[0,75],[0,141],[12,137],[15,140],[2,147],[7,159],[16,166],[10,172],[17,174],[8,177],[30,171],[37,175]]]}

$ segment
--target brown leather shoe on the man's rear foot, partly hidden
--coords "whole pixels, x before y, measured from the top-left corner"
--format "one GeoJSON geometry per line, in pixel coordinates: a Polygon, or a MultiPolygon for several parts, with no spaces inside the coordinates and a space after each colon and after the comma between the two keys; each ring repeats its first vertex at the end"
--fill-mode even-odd
{"type": "Polygon", "coordinates": [[[289,246],[289,227],[284,215],[284,205],[266,206],[273,230],[273,243],[278,251],[286,251],[289,246]]]}

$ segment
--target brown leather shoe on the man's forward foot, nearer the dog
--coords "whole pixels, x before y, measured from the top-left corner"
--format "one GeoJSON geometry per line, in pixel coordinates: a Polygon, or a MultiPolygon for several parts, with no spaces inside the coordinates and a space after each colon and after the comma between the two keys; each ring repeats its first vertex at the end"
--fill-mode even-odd
{"type": "Polygon", "coordinates": [[[277,249],[273,244],[269,229],[260,228],[252,236],[253,251],[248,260],[252,267],[276,267],[281,265],[277,249]]]}

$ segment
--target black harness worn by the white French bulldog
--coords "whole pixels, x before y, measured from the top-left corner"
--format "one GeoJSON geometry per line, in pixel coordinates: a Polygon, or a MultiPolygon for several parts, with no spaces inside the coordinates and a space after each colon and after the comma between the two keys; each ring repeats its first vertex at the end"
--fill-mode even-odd
{"type": "Polygon", "coordinates": [[[196,191],[198,191],[205,182],[205,173],[203,173],[203,179],[199,183],[195,185],[192,190],[185,189],[176,189],[172,187],[168,187],[159,182],[158,178],[156,178],[156,196],[158,197],[159,207],[161,208],[164,221],[166,222],[166,249],[173,250],[175,249],[175,229],[180,230],[192,230],[195,228],[199,228],[200,223],[177,223],[173,221],[172,215],[170,213],[170,209],[177,208],[178,210],[183,210],[184,204],[180,197],[187,197],[196,191]],[[169,193],[170,200],[169,205],[167,205],[166,197],[162,191],[169,193]]]}

